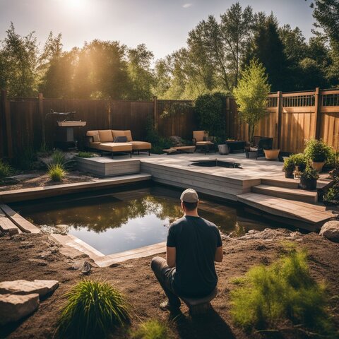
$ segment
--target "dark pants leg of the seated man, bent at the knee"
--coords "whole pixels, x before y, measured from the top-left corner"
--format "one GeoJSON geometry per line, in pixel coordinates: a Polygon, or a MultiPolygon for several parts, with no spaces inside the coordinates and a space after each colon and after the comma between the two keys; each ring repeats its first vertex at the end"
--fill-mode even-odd
{"type": "Polygon", "coordinates": [[[150,263],[150,267],[152,268],[157,280],[159,281],[162,290],[164,290],[165,295],[167,295],[169,305],[171,307],[179,307],[181,302],[173,287],[173,275],[175,272],[175,267],[170,268],[167,265],[167,262],[164,258],[160,258],[160,256],[155,256],[150,263]]]}

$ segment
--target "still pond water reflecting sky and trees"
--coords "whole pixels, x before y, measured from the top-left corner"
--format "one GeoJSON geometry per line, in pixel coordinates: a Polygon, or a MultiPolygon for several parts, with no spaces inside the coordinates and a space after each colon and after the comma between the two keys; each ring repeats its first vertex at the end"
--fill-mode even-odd
{"type": "MultiPolygon", "coordinates": [[[[11,207],[35,225],[68,225],[69,234],[103,254],[114,254],[164,242],[171,222],[182,217],[182,191],[165,186],[73,194],[11,207]]],[[[271,227],[239,215],[237,206],[201,198],[199,215],[225,234],[271,227]]]]}

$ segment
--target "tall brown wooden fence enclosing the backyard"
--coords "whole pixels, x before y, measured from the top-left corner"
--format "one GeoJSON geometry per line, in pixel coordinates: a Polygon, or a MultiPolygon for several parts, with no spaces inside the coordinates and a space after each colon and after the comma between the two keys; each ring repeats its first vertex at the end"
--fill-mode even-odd
{"type": "MultiPolygon", "coordinates": [[[[7,98],[1,91],[0,157],[16,157],[25,148],[40,148],[45,131],[47,145],[53,145],[57,131],[54,112],[76,111],[76,120],[87,121],[75,129],[76,138],[90,129],[131,129],[133,138],[145,139],[147,117],[153,117],[160,136],[182,136],[191,139],[198,128],[193,107],[183,105],[179,114],[163,117],[166,107],[174,100],[55,100],[42,94],[35,99],[7,98]]],[[[191,103],[181,101],[181,103],[191,103]]],[[[248,126],[239,120],[237,104],[227,97],[225,111],[227,137],[247,141],[248,126]]],[[[304,149],[304,141],[322,138],[338,150],[339,90],[316,90],[298,93],[272,93],[268,96],[266,117],[261,119],[255,135],[274,138],[275,148],[297,153],[304,149]]]]}

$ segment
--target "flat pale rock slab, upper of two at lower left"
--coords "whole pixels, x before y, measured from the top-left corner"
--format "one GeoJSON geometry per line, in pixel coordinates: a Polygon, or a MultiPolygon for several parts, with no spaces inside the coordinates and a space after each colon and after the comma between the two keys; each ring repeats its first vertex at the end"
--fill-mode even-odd
{"type": "Polygon", "coordinates": [[[13,293],[16,295],[30,295],[37,293],[44,297],[49,292],[53,292],[59,286],[57,280],[13,280],[0,283],[0,294],[13,293]]]}

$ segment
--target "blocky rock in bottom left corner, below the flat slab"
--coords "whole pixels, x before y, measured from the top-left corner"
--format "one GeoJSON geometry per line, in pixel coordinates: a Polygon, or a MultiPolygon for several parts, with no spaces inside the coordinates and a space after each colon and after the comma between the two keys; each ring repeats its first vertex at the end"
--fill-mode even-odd
{"type": "Polygon", "coordinates": [[[0,295],[0,326],[18,321],[39,307],[39,295],[0,295]]]}

